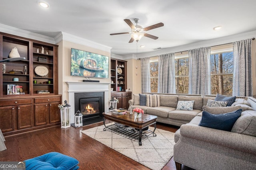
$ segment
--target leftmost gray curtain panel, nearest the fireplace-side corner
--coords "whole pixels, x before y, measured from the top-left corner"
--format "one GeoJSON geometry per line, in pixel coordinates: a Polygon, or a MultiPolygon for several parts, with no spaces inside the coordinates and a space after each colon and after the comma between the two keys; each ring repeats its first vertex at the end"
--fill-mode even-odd
{"type": "Polygon", "coordinates": [[[150,92],[150,57],[140,60],[141,65],[141,91],[142,93],[150,92]]]}

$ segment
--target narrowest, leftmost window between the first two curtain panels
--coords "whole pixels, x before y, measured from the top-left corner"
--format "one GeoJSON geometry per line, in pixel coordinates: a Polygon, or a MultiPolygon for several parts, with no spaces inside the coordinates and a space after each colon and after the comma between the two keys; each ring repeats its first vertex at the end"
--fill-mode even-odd
{"type": "Polygon", "coordinates": [[[150,59],[150,91],[158,92],[158,57],[150,59]]]}

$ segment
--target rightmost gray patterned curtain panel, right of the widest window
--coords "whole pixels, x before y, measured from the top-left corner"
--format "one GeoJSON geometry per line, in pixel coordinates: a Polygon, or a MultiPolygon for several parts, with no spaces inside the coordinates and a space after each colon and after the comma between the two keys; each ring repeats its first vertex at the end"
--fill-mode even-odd
{"type": "Polygon", "coordinates": [[[252,39],[233,43],[233,96],[253,96],[252,39]]]}

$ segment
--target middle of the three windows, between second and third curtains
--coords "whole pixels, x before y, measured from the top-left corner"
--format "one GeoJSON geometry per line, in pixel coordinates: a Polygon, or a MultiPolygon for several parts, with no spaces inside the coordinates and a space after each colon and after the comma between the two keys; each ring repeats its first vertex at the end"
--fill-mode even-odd
{"type": "Polygon", "coordinates": [[[188,94],[188,55],[175,57],[176,93],[188,94]]]}

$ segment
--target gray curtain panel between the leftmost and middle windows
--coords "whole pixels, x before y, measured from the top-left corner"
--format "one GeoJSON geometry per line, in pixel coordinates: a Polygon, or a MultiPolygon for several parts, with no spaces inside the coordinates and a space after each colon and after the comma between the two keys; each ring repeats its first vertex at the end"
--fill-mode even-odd
{"type": "Polygon", "coordinates": [[[176,93],[174,53],[158,56],[158,92],[176,93]]]}

